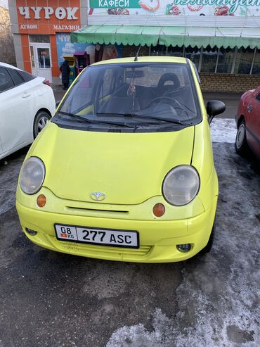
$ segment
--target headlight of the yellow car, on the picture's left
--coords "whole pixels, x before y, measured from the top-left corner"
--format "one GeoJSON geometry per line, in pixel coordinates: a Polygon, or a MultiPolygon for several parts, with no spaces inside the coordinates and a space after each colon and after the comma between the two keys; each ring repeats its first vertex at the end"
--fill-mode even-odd
{"type": "Polygon", "coordinates": [[[30,157],[23,163],[20,172],[20,187],[26,194],[35,194],[44,183],[45,166],[41,159],[30,157]]]}

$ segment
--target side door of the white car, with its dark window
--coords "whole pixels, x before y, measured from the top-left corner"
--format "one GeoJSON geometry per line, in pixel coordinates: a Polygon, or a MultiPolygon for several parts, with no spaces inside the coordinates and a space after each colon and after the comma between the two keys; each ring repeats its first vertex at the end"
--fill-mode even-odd
{"type": "Polygon", "coordinates": [[[3,153],[30,144],[28,115],[32,113],[31,92],[13,69],[0,66],[0,131],[3,153]]]}

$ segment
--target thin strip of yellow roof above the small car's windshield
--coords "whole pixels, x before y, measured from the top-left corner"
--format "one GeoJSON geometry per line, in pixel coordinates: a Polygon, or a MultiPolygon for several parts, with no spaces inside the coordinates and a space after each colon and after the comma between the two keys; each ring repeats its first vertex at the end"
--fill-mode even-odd
{"type": "Polygon", "coordinates": [[[187,59],[176,56],[138,56],[138,61],[134,61],[134,56],[129,58],[115,58],[108,61],[98,61],[91,65],[102,65],[102,64],[120,64],[120,63],[182,63],[187,64],[187,59]]]}

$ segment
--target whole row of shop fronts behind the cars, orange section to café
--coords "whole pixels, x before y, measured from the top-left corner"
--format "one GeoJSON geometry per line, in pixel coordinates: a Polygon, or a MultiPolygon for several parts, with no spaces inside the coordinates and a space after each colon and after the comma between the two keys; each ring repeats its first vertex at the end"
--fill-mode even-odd
{"type": "Polygon", "coordinates": [[[260,84],[260,0],[9,0],[9,8],[18,66],[54,83],[65,54],[87,51],[93,62],[134,56],[141,45],[141,55],[190,58],[204,90],[260,84]]]}

